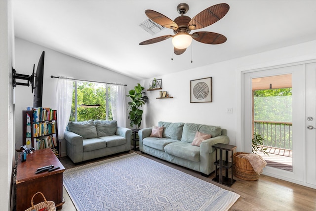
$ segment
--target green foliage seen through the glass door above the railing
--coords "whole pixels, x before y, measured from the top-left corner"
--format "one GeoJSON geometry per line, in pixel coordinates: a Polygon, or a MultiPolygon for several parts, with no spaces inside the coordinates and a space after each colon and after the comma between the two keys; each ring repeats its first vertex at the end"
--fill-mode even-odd
{"type": "Polygon", "coordinates": [[[292,88],[254,91],[254,120],[292,122],[292,88]]]}

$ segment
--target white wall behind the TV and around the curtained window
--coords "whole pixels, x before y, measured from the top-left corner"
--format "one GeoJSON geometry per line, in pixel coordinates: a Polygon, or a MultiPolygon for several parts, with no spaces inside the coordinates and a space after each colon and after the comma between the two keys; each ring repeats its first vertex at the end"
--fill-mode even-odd
{"type": "MultiPolygon", "coordinates": [[[[57,79],[50,78],[51,75],[62,75],[74,79],[98,82],[127,84],[127,86],[125,86],[126,94],[128,93],[128,90],[134,88],[137,83],[140,83],[139,80],[123,76],[116,72],[19,38],[15,39],[15,70],[17,73],[31,75],[33,64],[35,64],[36,71],[42,51],[45,51],[42,98],[43,107],[56,109],[55,95],[57,79]]],[[[16,101],[16,146],[18,147],[22,145],[22,111],[25,110],[27,106],[33,106],[33,94],[31,86],[18,85],[14,89],[16,101]]],[[[126,104],[127,102],[128,98],[126,98],[126,104]]],[[[128,112],[126,112],[126,114],[127,113],[128,112]]],[[[129,127],[129,120],[127,117],[126,127],[129,127]]],[[[61,155],[64,156],[66,155],[66,144],[64,140],[61,140],[61,142],[61,155]]]]}

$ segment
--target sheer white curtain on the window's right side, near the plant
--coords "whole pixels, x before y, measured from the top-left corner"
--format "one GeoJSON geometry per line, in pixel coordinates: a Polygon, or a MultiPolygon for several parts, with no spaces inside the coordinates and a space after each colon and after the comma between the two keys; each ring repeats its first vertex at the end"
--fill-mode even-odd
{"type": "Polygon", "coordinates": [[[110,96],[113,120],[117,121],[118,127],[126,127],[125,86],[111,85],[110,96]]]}

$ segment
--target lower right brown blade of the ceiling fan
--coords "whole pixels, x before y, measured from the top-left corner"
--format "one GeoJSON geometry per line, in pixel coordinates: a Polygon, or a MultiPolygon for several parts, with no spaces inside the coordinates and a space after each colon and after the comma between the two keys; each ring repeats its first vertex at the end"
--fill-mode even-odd
{"type": "Polygon", "coordinates": [[[192,38],[206,44],[221,44],[227,41],[224,35],[214,32],[195,32],[192,34],[192,38]]]}

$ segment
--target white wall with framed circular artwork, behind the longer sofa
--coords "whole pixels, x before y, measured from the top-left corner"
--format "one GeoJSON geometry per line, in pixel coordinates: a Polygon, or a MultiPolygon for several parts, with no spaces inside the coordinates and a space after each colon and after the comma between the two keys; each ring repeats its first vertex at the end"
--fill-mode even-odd
{"type": "MultiPolygon", "coordinates": [[[[149,102],[144,106],[142,127],[157,126],[158,121],[199,123],[227,129],[230,144],[244,151],[241,140],[241,71],[316,59],[316,41],[240,57],[216,64],[190,69],[162,79],[162,90],[174,98],[156,99],[158,90],[146,91],[149,102]],[[190,80],[212,77],[213,102],[190,103],[190,80]],[[233,113],[226,113],[233,108],[233,113]]],[[[142,81],[148,89],[150,81],[142,81]]]]}

